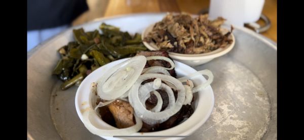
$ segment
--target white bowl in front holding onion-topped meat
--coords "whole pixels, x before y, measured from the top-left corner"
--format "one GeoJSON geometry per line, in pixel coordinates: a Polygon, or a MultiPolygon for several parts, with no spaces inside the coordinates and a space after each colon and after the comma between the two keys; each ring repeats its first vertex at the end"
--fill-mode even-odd
{"type": "MultiPolygon", "coordinates": [[[[81,85],[79,86],[76,96],[75,96],[75,107],[77,110],[77,114],[79,116],[79,118],[83,121],[83,115],[82,113],[87,109],[87,108],[92,108],[92,106],[90,105],[90,101],[89,101],[89,93],[90,93],[90,85],[92,82],[96,82],[102,74],[104,74],[105,71],[107,71],[109,68],[123,62],[126,61],[129,58],[126,59],[121,59],[118,61],[114,61],[111,62],[109,64],[106,64],[100,68],[98,68],[97,70],[93,71],[90,75],[88,75],[83,82],[81,83],[81,85]]],[[[177,74],[177,77],[182,77],[191,73],[196,72],[195,69],[193,69],[192,67],[189,67],[183,63],[175,62],[175,71],[177,74]]],[[[204,76],[202,75],[198,75],[196,77],[194,77],[193,79],[194,85],[199,85],[202,84],[204,82],[206,82],[207,80],[204,78],[204,76]]],[[[134,133],[132,135],[141,135],[141,136],[145,136],[145,135],[190,135],[192,134],[195,130],[197,130],[200,126],[202,126],[206,120],[209,118],[213,106],[214,106],[214,95],[213,95],[213,90],[211,88],[211,86],[207,86],[205,89],[196,92],[194,94],[194,98],[195,101],[192,104],[194,107],[194,113],[192,114],[191,117],[189,117],[187,120],[185,120],[184,122],[178,124],[175,127],[172,127],[170,129],[166,129],[166,130],[162,130],[162,131],[157,131],[157,132],[137,132],[134,133]]],[[[95,115],[95,120],[97,122],[99,122],[99,126],[100,128],[104,128],[104,129],[117,129],[107,123],[105,123],[104,121],[102,121],[97,115],[95,115]]],[[[118,138],[118,137],[110,137],[110,136],[104,136],[103,138],[105,139],[122,139],[122,138],[118,138]]],[[[144,137],[145,139],[155,139],[154,138],[147,138],[144,137]]],[[[123,138],[123,139],[142,139],[141,138],[123,138]]],[[[176,139],[175,138],[160,138],[160,139],[176,139]]]]}

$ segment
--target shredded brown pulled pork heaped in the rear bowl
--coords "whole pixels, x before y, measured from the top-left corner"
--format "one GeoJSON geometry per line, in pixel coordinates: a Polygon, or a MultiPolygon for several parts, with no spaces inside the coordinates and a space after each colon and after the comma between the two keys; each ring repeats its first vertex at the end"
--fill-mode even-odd
{"type": "Polygon", "coordinates": [[[208,20],[208,15],[192,18],[189,14],[168,14],[153,27],[143,41],[156,43],[159,50],[180,54],[202,54],[224,48],[232,43],[230,34],[220,26],[225,19],[208,20]]]}

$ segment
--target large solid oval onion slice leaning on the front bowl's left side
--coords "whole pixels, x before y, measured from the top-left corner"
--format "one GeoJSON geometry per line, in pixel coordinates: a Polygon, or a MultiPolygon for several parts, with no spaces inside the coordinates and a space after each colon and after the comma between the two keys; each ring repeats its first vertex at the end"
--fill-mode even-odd
{"type": "Polygon", "coordinates": [[[123,96],[140,76],[145,64],[144,56],[135,56],[110,68],[97,81],[99,97],[110,101],[123,96]]]}

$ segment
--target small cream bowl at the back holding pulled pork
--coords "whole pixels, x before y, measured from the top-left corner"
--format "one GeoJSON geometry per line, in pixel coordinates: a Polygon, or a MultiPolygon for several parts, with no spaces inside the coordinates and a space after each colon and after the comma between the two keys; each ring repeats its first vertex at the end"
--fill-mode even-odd
{"type": "MultiPolygon", "coordinates": [[[[143,38],[153,29],[155,24],[151,24],[150,26],[148,26],[141,34],[141,39],[143,40],[143,38]]],[[[225,28],[221,28],[221,30],[223,32],[226,32],[227,29],[225,28]]],[[[172,53],[172,52],[168,52],[169,56],[174,59],[177,60],[179,62],[185,63],[189,66],[198,66],[198,65],[202,65],[205,64],[209,61],[211,61],[214,58],[220,57],[222,55],[227,54],[228,52],[230,52],[234,45],[235,45],[235,37],[233,34],[230,35],[231,39],[233,40],[233,42],[230,45],[227,45],[225,48],[219,48],[217,50],[214,50],[212,52],[209,53],[203,53],[203,54],[179,54],[179,53],[172,53]]],[[[149,49],[150,51],[156,51],[157,50],[157,46],[154,42],[152,43],[148,43],[143,41],[143,44],[146,46],[147,49],[149,49]]]]}

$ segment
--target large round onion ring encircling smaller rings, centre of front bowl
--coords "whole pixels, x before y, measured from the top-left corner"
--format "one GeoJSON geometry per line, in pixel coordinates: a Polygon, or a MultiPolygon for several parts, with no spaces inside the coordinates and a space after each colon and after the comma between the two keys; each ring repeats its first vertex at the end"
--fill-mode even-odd
{"type": "MultiPolygon", "coordinates": [[[[162,85],[165,85],[165,84],[162,84],[162,85]]],[[[168,85],[166,85],[164,87],[170,88],[168,85]]],[[[171,88],[170,88],[170,90],[173,93],[171,88]]],[[[146,91],[145,91],[145,93],[146,93],[146,91]]],[[[148,92],[148,94],[149,94],[149,92],[148,92]]],[[[131,89],[129,91],[129,102],[130,102],[131,106],[134,108],[135,114],[137,116],[139,116],[140,118],[142,118],[143,121],[145,121],[147,119],[162,120],[162,119],[167,119],[167,118],[173,116],[181,109],[184,100],[185,100],[185,88],[182,85],[182,83],[179,80],[177,80],[176,78],[169,76],[169,75],[165,75],[165,74],[157,74],[157,73],[142,74],[138,77],[138,80],[134,83],[134,85],[131,87],[131,89]],[[161,112],[151,112],[143,106],[143,104],[140,102],[140,99],[139,99],[139,87],[140,87],[142,81],[150,79],[150,78],[160,78],[160,79],[162,79],[162,81],[171,82],[176,87],[178,96],[177,96],[177,100],[174,103],[173,107],[166,109],[164,111],[161,111],[161,112]]]]}

